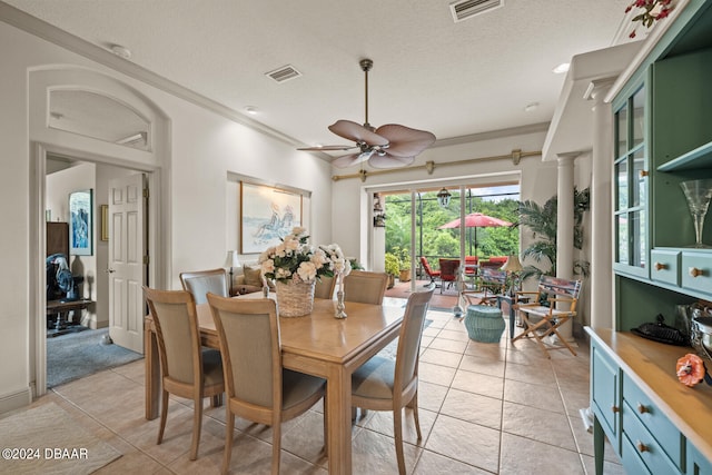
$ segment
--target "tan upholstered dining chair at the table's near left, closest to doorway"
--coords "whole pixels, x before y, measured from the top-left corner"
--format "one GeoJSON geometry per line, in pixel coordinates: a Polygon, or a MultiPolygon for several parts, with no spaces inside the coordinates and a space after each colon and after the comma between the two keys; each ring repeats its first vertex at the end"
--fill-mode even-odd
{"type": "Polygon", "coordinates": [[[185,290],[157,290],[144,286],[154,318],[161,369],[161,410],[158,442],[164,439],[168,394],[192,399],[190,459],[198,457],[202,425],[202,398],[225,393],[220,353],[200,346],[200,330],[192,295],[185,290]]]}

